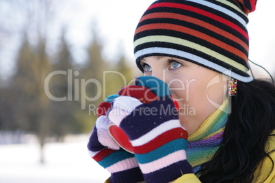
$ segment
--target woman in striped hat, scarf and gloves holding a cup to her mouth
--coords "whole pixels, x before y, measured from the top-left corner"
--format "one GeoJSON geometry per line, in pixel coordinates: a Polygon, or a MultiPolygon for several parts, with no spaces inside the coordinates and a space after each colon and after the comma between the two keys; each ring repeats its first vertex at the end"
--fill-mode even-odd
{"type": "Polygon", "coordinates": [[[145,76],[100,104],[88,143],[107,182],[275,182],[275,86],[248,74],[255,3],[150,5],[134,38],[145,76]]]}

